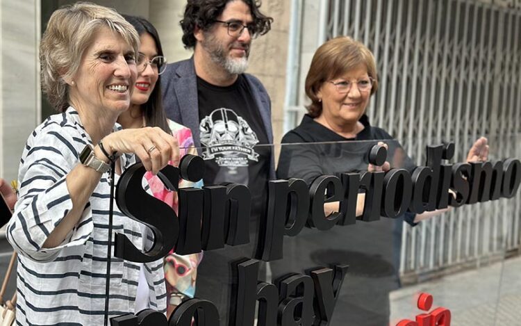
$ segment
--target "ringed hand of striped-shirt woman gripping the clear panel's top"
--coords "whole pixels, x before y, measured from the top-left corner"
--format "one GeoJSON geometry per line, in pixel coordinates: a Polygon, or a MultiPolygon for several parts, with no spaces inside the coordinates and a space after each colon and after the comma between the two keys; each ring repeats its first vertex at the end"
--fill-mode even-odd
{"type": "Polygon", "coordinates": [[[110,133],[103,140],[109,154],[135,153],[144,168],[157,174],[169,161],[179,162],[177,139],[159,127],[124,129],[110,133]]]}

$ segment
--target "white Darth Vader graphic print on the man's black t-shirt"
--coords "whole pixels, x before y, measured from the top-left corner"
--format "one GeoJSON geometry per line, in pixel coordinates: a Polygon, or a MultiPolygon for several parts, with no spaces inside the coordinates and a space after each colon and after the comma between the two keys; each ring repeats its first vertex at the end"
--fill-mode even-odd
{"type": "Polygon", "coordinates": [[[217,108],[199,124],[204,160],[214,160],[223,167],[248,166],[258,161],[254,146],[256,133],[248,122],[229,108],[217,108]]]}

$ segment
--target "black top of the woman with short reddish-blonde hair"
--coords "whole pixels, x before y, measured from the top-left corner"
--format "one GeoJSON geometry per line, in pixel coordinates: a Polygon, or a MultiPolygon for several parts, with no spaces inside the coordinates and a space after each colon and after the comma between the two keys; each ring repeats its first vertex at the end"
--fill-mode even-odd
{"type": "MultiPolygon", "coordinates": [[[[282,138],[277,178],[299,178],[311,184],[323,174],[366,171],[369,164],[367,154],[379,140],[386,140],[387,161],[391,168],[404,168],[412,172],[415,164],[397,140],[385,130],[372,127],[367,115],[362,115],[359,121],[364,129],[355,138],[345,138],[315,122],[310,115],[304,115],[301,124],[282,138]]],[[[415,225],[414,216],[407,213],[404,218],[409,224],[415,225]]]]}

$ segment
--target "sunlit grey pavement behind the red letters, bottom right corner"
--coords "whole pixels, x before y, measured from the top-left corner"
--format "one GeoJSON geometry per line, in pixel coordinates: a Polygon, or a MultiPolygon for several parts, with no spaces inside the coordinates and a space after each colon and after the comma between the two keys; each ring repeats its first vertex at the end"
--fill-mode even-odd
{"type": "Polygon", "coordinates": [[[390,293],[391,325],[422,313],[415,294],[433,295],[433,308],[452,312],[451,325],[521,325],[521,257],[406,286],[390,293]]]}

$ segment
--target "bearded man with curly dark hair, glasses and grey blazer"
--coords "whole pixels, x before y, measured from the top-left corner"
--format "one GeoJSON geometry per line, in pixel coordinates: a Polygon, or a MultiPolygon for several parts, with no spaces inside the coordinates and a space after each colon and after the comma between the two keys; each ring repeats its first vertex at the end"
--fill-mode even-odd
{"type": "Polygon", "coordinates": [[[250,245],[206,252],[198,270],[196,297],[217,305],[221,325],[228,325],[229,262],[252,255],[267,181],[275,177],[271,147],[258,146],[273,142],[270,97],[261,81],[245,74],[252,40],[273,21],[260,6],[256,0],[188,0],[181,28],[194,54],[169,64],[161,79],[167,117],[192,129],[205,160],[204,184],[245,184],[251,192],[250,245]]]}

